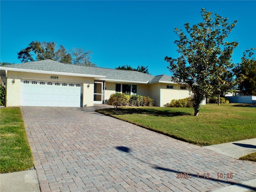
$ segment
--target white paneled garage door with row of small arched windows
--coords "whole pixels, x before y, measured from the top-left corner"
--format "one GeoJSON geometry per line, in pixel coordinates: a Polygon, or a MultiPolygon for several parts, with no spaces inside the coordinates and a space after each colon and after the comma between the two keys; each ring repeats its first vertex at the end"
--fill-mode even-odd
{"type": "Polygon", "coordinates": [[[20,106],[80,107],[81,84],[21,80],[20,106]]]}

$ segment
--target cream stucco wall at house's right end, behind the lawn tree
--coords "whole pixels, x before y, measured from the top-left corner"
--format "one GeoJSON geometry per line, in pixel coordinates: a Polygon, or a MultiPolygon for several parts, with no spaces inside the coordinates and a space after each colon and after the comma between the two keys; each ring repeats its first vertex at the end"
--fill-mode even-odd
{"type": "MultiPolygon", "coordinates": [[[[188,87],[187,87],[188,89],[188,87]]],[[[170,103],[173,99],[183,99],[190,96],[190,90],[180,90],[180,85],[177,84],[160,84],[160,107],[170,103]],[[167,85],[172,85],[173,89],[167,89],[167,85]]]]}

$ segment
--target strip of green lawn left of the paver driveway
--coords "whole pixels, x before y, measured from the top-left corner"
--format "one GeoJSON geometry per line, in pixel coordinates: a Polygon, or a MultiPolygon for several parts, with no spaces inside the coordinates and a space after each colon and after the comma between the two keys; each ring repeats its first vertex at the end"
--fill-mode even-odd
{"type": "Polygon", "coordinates": [[[0,173],[28,170],[33,157],[20,108],[0,108],[0,173]]]}

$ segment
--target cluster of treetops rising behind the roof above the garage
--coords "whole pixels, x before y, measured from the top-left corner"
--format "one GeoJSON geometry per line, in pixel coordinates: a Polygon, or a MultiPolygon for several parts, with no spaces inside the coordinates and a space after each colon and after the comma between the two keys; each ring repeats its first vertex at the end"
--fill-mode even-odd
{"type": "Polygon", "coordinates": [[[18,52],[18,59],[21,62],[32,62],[39,60],[51,59],[61,63],[96,66],[90,62],[91,51],[84,52],[82,48],[73,48],[66,50],[62,45],[57,47],[55,42],[39,42],[32,41],[28,47],[18,52]]]}

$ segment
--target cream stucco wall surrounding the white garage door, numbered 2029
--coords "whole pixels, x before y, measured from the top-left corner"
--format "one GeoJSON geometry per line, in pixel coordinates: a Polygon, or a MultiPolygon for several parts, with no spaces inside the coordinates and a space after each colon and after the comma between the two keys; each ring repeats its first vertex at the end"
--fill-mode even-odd
{"type": "Polygon", "coordinates": [[[83,96],[82,106],[93,106],[94,78],[56,75],[58,76],[58,79],[51,79],[50,76],[52,75],[8,71],[6,83],[6,106],[20,106],[21,79],[81,83],[83,96]],[[13,79],[15,79],[15,83],[12,83],[13,79]],[[88,84],[90,84],[89,88],[87,87],[88,84]]]}

